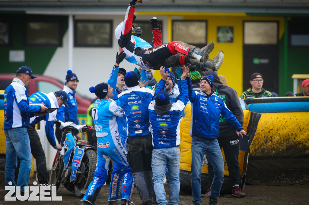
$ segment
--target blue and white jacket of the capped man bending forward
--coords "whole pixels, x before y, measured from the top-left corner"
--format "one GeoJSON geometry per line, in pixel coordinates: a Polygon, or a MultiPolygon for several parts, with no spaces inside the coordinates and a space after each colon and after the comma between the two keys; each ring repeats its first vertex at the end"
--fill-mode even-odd
{"type": "MultiPolygon", "coordinates": [[[[58,108],[58,102],[55,94],[53,92],[50,92],[48,94],[37,92],[33,93],[29,97],[29,101],[33,103],[44,103],[44,106],[50,107],[50,108],[58,108]]],[[[53,111],[52,113],[47,113],[45,116],[38,116],[30,118],[30,125],[36,125],[41,120],[45,120],[45,133],[46,137],[49,141],[49,144],[52,147],[55,147],[57,145],[54,135],[54,123],[57,115],[57,110],[53,111]]]]}

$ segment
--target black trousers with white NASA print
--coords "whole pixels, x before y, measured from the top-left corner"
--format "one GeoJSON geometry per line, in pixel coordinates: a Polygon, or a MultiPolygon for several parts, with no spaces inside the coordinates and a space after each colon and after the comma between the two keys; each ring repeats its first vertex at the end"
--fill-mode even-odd
{"type": "MultiPolygon", "coordinates": [[[[240,183],[239,170],[239,137],[234,128],[224,131],[219,134],[218,143],[220,148],[223,148],[225,161],[229,170],[231,185],[240,183]]],[[[214,179],[213,166],[208,163],[208,179],[211,184],[214,179]]]]}

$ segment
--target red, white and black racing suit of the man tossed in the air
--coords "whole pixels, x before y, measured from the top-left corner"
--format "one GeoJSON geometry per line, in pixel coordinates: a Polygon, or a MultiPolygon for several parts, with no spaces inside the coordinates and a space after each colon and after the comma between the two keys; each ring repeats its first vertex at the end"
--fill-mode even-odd
{"type": "Polygon", "coordinates": [[[162,34],[159,27],[153,28],[153,42],[147,43],[140,37],[131,33],[135,4],[130,3],[125,14],[125,20],[115,29],[119,50],[125,51],[126,60],[140,66],[142,69],[159,70],[161,66],[171,67],[188,64],[189,66],[202,68],[203,64],[197,59],[189,58],[196,46],[180,41],[162,43],[162,34]],[[154,46],[154,47],[153,47],[154,46]]]}

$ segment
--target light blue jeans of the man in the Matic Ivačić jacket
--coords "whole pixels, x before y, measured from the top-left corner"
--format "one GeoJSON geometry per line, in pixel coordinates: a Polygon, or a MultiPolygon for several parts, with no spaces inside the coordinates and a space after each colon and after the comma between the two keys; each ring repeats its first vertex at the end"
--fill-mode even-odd
{"type": "Polygon", "coordinates": [[[151,167],[153,180],[155,183],[154,190],[157,196],[158,205],[177,205],[179,200],[179,167],[180,167],[180,149],[179,147],[154,149],[152,151],[151,167]],[[166,200],[163,180],[165,167],[167,165],[170,182],[170,201],[166,200]]]}

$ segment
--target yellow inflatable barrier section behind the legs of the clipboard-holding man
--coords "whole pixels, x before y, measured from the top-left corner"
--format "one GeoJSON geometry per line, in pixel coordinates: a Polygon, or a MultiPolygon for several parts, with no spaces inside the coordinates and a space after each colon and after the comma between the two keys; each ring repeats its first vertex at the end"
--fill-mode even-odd
{"type": "MultiPolygon", "coordinates": [[[[191,122],[191,105],[187,104],[185,107],[185,117],[181,119],[180,123],[180,190],[191,192],[191,136],[190,136],[190,122],[191,122]]],[[[260,114],[244,110],[244,125],[243,128],[249,135],[249,144],[251,145],[254,135],[259,123],[260,114]]],[[[228,168],[225,163],[225,157],[222,150],[223,161],[224,161],[224,180],[221,188],[221,194],[230,193],[232,191],[228,168]]],[[[239,167],[240,167],[240,179],[241,188],[246,181],[246,171],[248,163],[248,153],[239,151],[239,167]]],[[[208,181],[207,164],[202,166],[201,176],[201,190],[202,193],[206,192],[206,189],[210,187],[208,181]]]]}

